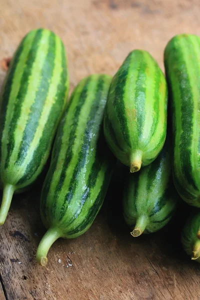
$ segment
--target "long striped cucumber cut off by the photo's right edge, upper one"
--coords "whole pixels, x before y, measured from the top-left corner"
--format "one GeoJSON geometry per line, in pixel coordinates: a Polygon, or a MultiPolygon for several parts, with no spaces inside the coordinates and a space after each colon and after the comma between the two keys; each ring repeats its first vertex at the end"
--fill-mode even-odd
{"type": "Polygon", "coordinates": [[[200,37],[174,36],[164,51],[173,136],[173,179],[188,204],[200,207],[200,37]]]}

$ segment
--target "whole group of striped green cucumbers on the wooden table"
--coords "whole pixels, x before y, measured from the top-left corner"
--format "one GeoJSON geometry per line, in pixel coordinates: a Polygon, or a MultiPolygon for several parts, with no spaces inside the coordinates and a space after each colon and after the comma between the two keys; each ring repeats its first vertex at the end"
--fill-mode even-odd
{"type": "MultiPolygon", "coordinates": [[[[179,196],[200,207],[199,52],[200,37],[174,36],[164,51],[165,79],[147,51],[133,50],[113,78],[89,75],[67,100],[62,41],[42,28],[25,35],[0,94],[0,225],[13,193],[36,184],[53,143],[41,190],[47,231],[38,263],[47,264],[57,238],[90,227],[117,159],[129,167],[122,207],[132,236],[163,227],[179,196]]],[[[186,222],[182,244],[200,262],[200,211],[186,222]]]]}

